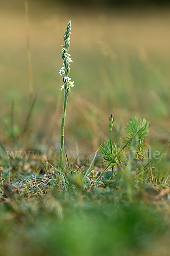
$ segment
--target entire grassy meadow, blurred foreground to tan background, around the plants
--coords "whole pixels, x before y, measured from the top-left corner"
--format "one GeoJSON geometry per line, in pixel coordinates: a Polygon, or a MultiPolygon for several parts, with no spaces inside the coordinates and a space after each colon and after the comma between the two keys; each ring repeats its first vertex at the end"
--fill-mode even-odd
{"type": "Polygon", "coordinates": [[[30,1],[33,100],[24,4],[9,2],[0,3],[0,254],[169,255],[170,9],[63,12],[61,5],[30,1]],[[69,19],[75,87],[62,177],[55,170],[63,97],[58,72],[69,19]],[[111,113],[114,142],[131,117],[150,120],[150,160],[134,160],[127,175],[121,170],[112,179],[108,172],[95,183],[106,164],[95,155],[83,161],[108,141],[111,113]]]}

